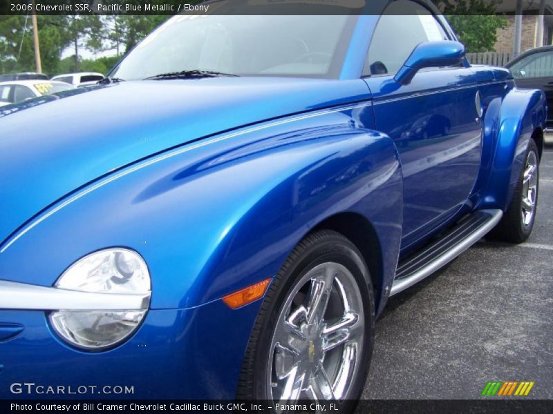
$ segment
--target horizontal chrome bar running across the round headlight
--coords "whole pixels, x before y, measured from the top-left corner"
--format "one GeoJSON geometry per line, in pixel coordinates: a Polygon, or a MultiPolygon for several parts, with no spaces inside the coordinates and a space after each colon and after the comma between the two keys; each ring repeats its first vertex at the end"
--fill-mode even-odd
{"type": "Polygon", "coordinates": [[[0,309],[28,311],[135,311],[151,293],[93,293],[0,280],[0,309]]]}

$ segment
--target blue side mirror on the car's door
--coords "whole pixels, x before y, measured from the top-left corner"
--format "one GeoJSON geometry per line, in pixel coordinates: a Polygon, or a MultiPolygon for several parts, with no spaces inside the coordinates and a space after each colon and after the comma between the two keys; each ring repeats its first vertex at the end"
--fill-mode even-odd
{"type": "Polygon", "coordinates": [[[408,85],[422,68],[454,66],[462,63],[465,46],[458,41],[440,40],[420,43],[407,58],[394,79],[402,85],[408,85]]]}

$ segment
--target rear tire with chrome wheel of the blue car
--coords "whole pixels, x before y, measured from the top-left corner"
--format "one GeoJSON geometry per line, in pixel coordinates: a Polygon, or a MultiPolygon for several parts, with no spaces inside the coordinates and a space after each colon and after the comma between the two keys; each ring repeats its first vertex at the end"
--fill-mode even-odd
{"type": "Polygon", "coordinates": [[[539,155],[534,139],[528,142],[524,166],[513,193],[513,199],[489,237],[500,242],[525,242],[536,219],[539,189],[539,155]]]}

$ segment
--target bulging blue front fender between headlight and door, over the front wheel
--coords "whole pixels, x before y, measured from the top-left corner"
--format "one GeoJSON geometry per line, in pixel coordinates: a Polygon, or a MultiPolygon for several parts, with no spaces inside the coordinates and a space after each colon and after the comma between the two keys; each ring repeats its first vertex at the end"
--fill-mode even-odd
{"type": "Polygon", "coordinates": [[[125,246],[149,266],[151,308],[191,308],[273,276],[317,223],[353,212],[375,227],[391,282],[400,165],[391,139],[361,124],[363,110],[254,126],[114,173],[0,246],[0,274],[51,286],[79,257],[125,246]]]}

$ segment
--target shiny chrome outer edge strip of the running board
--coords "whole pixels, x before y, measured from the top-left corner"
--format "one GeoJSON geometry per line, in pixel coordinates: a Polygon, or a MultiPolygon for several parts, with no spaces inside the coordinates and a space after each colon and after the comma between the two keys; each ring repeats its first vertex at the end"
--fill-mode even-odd
{"type": "Polygon", "coordinates": [[[486,233],[489,232],[489,230],[491,230],[496,226],[496,224],[498,224],[501,217],[503,217],[503,211],[501,210],[490,209],[480,211],[491,214],[491,218],[486,221],[485,224],[482,224],[480,228],[475,230],[474,233],[471,233],[468,237],[462,239],[458,244],[447,250],[446,253],[438,256],[433,262],[430,262],[429,264],[427,264],[427,266],[420,268],[415,273],[413,273],[413,275],[405,277],[403,279],[394,280],[392,288],[390,290],[390,296],[393,296],[396,293],[400,293],[402,290],[413,286],[415,283],[420,282],[422,279],[431,275],[442,266],[451,262],[451,260],[455,259],[458,255],[467,250],[467,248],[469,248],[470,246],[478,242],[478,240],[480,240],[482,237],[484,237],[486,233]]]}

